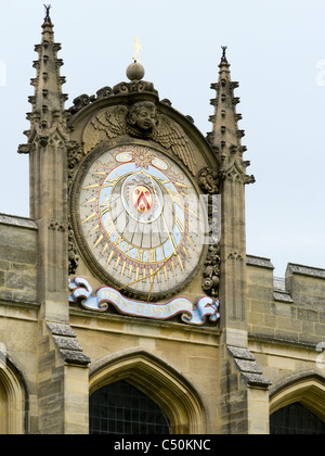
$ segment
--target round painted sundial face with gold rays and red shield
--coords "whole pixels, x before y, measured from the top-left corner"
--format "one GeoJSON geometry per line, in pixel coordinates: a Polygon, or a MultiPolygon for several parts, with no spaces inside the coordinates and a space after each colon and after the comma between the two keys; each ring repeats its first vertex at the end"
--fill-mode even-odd
{"type": "Polygon", "coordinates": [[[79,237],[101,278],[152,300],[187,282],[206,216],[173,161],[143,145],[106,150],[90,161],[79,194],[79,237]]]}

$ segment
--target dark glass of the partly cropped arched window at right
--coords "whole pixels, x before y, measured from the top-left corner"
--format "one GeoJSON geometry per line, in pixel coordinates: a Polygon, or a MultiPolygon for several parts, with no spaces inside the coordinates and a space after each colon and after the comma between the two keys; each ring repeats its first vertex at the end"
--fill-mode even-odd
{"type": "Polygon", "coordinates": [[[325,422],[295,402],[271,415],[270,434],[325,434],[325,422]]]}

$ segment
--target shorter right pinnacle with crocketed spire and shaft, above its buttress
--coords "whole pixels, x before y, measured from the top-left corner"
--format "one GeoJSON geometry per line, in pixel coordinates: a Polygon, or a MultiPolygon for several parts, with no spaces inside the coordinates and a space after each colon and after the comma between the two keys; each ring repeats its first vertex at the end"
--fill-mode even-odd
{"type": "MultiPolygon", "coordinates": [[[[240,344],[247,343],[246,303],[246,232],[245,232],[245,183],[255,181],[247,176],[249,162],[243,161],[242,145],[244,131],[238,128],[240,114],[236,113],[239,99],[234,96],[238,83],[233,83],[230,63],[222,47],[219,64],[219,80],[211,88],[217,90],[214,115],[210,117],[212,131],[208,140],[219,162],[219,192],[221,194],[221,241],[220,241],[220,306],[221,326],[225,334],[232,330],[243,331],[240,344]],[[245,334],[245,335],[244,335],[245,334]]],[[[227,340],[226,343],[233,342],[227,340]]],[[[236,342],[237,344],[239,342],[236,342]]]]}

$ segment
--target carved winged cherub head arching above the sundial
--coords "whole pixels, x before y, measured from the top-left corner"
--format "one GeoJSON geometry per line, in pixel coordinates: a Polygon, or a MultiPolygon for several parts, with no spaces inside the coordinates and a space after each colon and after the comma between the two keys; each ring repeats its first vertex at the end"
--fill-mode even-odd
{"type": "Polygon", "coordinates": [[[195,150],[180,125],[160,114],[151,101],[112,106],[92,117],[83,131],[84,154],[118,136],[150,139],[170,150],[195,174],[195,150]]]}

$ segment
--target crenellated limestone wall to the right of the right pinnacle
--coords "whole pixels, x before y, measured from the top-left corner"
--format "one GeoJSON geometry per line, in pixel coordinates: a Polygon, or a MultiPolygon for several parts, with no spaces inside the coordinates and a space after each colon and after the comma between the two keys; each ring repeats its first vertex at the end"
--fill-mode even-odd
{"type": "MultiPolygon", "coordinates": [[[[282,406],[276,395],[284,389],[295,390],[296,384],[299,390],[299,383],[304,390],[295,401],[307,401],[325,385],[325,365],[320,363],[325,341],[325,270],[288,264],[286,278],[274,279],[270,259],[249,256],[247,278],[249,350],[272,382],[272,414],[282,406]],[[309,387],[313,381],[316,388],[309,387]]],[[[317,402],[324,403],[312,401],[317,402]]],[[[315,406],[314,411],[325,419],[322,407],[315,406]]]]}

